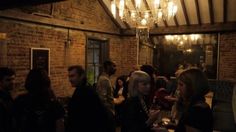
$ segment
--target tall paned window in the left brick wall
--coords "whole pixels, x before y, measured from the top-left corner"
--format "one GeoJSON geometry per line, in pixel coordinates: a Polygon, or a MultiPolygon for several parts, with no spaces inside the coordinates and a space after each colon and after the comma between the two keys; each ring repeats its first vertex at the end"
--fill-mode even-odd
{"type": "Polygon", "coordinates": [[[109,58],[108,41],[88,39],[86,48],[86,72],[88,83],[97,83],[102,64],[109,58]]]}

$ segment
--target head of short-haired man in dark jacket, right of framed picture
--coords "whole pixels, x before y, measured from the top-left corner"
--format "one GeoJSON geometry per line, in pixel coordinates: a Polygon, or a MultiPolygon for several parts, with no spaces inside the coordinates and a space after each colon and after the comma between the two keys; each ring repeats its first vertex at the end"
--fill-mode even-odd
{"type": "Polygon", "coordinates": [[[82,66],[75,65],[68,68],[69,72],[69,81],[72,87],[78,87],[81,84],[87,82],[85,70],[82,66]]]}

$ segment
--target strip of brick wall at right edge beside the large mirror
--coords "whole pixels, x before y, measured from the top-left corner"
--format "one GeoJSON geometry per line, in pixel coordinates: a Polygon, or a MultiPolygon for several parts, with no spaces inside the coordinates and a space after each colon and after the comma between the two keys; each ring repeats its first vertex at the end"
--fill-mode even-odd
{"type": "Polygon", "coordinates": [[[236,32],[220,35],[219,79],[236,82],[236,32]]]}

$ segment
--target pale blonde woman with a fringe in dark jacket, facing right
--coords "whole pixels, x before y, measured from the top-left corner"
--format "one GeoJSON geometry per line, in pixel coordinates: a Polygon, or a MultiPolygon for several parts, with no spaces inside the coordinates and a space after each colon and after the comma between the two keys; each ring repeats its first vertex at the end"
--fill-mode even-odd
{"type": "Polygon", "coordinates": [[[124,108],[122,132],[151,132],[159,110],[149,111],[147,96],[150,93],[150,76],[143,71],[132,73],[129,81],[129,98],[124,108]]]}

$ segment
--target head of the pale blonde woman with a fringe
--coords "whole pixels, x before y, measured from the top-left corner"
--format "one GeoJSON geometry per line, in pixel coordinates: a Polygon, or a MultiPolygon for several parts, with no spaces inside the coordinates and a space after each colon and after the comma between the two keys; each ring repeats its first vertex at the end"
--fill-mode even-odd
{"type": "Polygon", "coordinates": [[[135,71],[129,80],[130,97],[147,96],[150,93],[150,76],[143,71],[135,71]]]}

